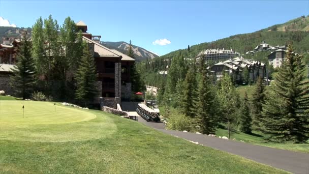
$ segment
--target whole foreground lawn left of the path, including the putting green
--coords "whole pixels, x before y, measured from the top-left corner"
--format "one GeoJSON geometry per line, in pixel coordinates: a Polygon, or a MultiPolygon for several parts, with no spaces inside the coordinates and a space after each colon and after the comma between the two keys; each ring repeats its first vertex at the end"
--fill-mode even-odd
{"type": "Polygon", "coordinates": [[[287,173],[99,110],[0,102],[0,173],[287,173]]]}

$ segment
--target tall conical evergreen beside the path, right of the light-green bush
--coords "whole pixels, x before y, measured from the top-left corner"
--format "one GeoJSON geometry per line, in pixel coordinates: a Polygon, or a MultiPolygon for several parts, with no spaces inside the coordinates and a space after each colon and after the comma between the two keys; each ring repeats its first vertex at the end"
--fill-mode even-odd
{"type": "Polygon", "coordinates": [[[217,108],[218,103],[212,92],[211,83],[207,75],[207,69],[203,57],[200,59],[200,75],[201,79],[198,86],[198,100],[196,102],[195,122],[198,131],[203,134],[212,134],[218,126],[217,108]]]}

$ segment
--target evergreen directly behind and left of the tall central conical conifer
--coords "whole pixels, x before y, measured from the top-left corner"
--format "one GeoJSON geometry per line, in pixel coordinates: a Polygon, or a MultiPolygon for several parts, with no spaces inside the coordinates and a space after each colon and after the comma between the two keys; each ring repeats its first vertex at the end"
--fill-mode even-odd
{"type": "Polygon", "coordinates": [[[186,79],[184,79],[183,96],[181,96],[180,98],[180,107],[184,115],[194,117],[194,115],[196,114],[194,102],[197,98],[197,88],[198,86],[196,82],[196,66],[194,61],[193,65],[191,65],[191,68],[186,75],[186,79]]]}

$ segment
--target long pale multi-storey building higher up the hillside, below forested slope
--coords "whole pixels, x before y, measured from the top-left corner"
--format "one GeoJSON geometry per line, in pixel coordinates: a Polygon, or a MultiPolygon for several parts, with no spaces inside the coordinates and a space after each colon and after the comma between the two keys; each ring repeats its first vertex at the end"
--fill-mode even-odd
{"type": "Polygon", "coordinates": [[[198,61],[202,55],[205,55],[205,61],[214,61],[214,62],[220,62],[228,59],[233,59],[234,57],[239,56],[238,52],[233,51],[232,49],[226,50],[226,49],[206,49],[204,51],[201,51],[197,57],[196,60],[198,61]]]}

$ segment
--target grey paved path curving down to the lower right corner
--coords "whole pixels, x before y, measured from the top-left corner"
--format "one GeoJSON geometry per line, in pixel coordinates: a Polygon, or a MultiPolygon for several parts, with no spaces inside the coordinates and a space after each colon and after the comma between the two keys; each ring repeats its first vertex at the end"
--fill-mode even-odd
{"type": "MultiPolygon", "coordinates": [[[[132,104],[131,108],[133,106],[132,104]]],[[[292,173],[309,174],[309,154],[257,146],[250,143],[226,140],[207,135],[165,130],[165,125],[163,123],[146,122],[141,117],[138,117],[138,122],[144,123],[161,132],[179,138],[197,141],[204,146],[239,155],[275,168],[281,168],[292,173]]]]}

